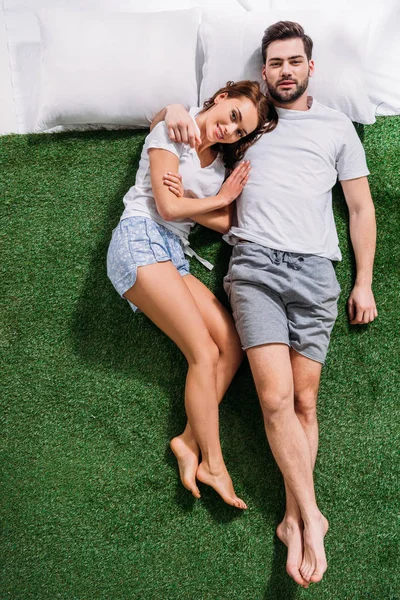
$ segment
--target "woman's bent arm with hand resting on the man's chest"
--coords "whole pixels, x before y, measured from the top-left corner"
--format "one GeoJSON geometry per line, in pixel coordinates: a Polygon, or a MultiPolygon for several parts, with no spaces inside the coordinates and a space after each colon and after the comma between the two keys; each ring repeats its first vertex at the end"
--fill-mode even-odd
{"type": "Polygon", "coordinates": [[[226,208],[241,193],[250,170],[249,162],[241,163],[222,185],[216,196],[210,198],[179,198],[164,185],[164,173],[177,172],[178,157],[159,148],[149,149],[150,176],[157,210],[166,221],[204,215],[226,208]]]}

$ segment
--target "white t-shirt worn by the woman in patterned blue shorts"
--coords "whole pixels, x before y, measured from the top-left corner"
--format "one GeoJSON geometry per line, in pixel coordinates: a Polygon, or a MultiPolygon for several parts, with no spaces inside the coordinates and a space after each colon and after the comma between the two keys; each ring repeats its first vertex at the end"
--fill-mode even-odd
{"type": "MultiPolygon", "coordinates": [[[[197,107],[190,109],[189,114],[193,120],[200,110],[197,107]]],[[[194,122],[196,124],[196,121],[194,122]]],[[[135,185],[124,196],[125,210],[122,213],[121,221],[134,216],[148,217],[178,235],[187,246],[187,238],[195,222],[191,219],[165,221],[158,213],[151,187],[148,155],[150,148],[168,150],[178,157],[179,173],[182,175],[185,195],[191,198],[208,198],[218,194],[225,179],[224,163],[221,157],[217,156],[211,165],[202,168],[196,150],[186,144],[172,142],[169,139],[164,121],[158,123],[146,137],[135,185]]]]}

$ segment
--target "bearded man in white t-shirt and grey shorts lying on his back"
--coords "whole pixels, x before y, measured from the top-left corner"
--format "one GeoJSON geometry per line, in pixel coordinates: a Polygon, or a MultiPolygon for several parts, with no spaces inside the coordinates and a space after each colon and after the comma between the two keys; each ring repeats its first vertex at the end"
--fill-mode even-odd
{"type": "MultiPolygon", "coordinates": [[[[340,293],[332,266],[341,259],[332,213],[337,178],[357,266],[350,323],[377,316],[375,212],[364,150],[345,115],[307,96],[311,52],[297,23],[281,21],[265,31],[262,76],[279,123],[246,154],[251,175],[237,201],[237,225],[225,237],[233,245],[225,290],[285,481],[277,534],[288,547],[287,571],[303,587],[320,581],[327,568],[328,522],[316,503],[313,469],[318,388],[340,293]]],[[[158,115],[164,117],[175,141],[195,143],[181,107],[168,107],[158,115]]]]}

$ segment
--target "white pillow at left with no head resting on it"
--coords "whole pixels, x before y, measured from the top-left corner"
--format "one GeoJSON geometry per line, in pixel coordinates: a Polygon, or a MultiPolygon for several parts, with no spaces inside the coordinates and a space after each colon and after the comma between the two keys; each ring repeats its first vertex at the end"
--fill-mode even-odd
{"type": "Polygon", "coordinates": [[[91,123],[148,127],[168,103],[196,105],[200,16],[197,8],[43,13],[37,130],[91,123]]]}

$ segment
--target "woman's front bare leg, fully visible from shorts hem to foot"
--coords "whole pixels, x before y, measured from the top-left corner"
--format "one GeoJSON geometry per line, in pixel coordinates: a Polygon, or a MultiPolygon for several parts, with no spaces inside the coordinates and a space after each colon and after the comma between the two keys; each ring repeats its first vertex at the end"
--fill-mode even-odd
{"type": "Polygon", "coordinates": [[[170,261],[139,267],[124,296],[180,348],[188,361],[186,413],[200,446],[207,483],[232,506],[246,508],[233,489],[219,441],[217,364],[213,342],[188,287],[170,261]]]}

